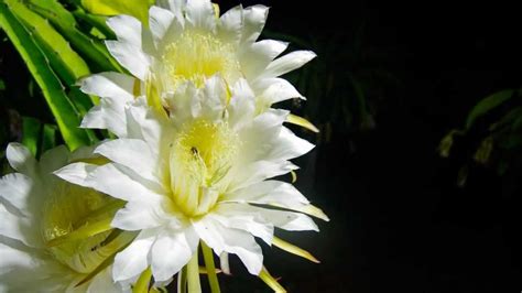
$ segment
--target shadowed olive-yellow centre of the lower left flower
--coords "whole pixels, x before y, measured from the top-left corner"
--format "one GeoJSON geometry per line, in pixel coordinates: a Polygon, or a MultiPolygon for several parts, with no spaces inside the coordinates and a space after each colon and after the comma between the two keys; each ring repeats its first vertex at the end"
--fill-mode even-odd
{"type": "MultiPolygon", "coordinates": [[[[95,191],[66,182],[56,184],[53,195],[43,205],[42,236],[44,241],[69,234],[86,224],[93,211],[110,203],[110,199],[95,191]]],[[[107,217],[107,215],[98,215],[107,217]]],[[[98,267],[107,256],[115,252],[115,246],[99,247],[110,232],[94,237],[67,241],[52,247],[48,252],[61,263],[78,273],[89,273],[98,267]]]]}

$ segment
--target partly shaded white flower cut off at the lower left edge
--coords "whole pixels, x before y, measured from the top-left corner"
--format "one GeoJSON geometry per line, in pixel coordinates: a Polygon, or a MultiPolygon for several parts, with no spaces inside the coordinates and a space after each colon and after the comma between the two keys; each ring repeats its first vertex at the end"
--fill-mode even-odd
{"type": "MultiPolygon", "coordinates": [[[[65,182],[52,172],[79,159],[58,146],[41,158],[11,143],[7,158],[20,172],[0,178],[0,292],[121,292],[105,269],[81,285],[89,273],[131,239],[100,246],[108,232],[50,247],[113,198],[65,182]]],[[[84,156],[85,158],[85,156],[84,156]]],[[[98,215],[102,216],[102,215],[98,215]]]]}

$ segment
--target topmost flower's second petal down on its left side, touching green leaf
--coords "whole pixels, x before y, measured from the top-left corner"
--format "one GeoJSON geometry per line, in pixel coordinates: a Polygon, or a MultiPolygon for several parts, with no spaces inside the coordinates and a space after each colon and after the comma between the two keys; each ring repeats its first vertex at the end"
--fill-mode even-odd
{"type": "Polygon", "coordinates": [[[151,65],[150,56],[141,48],[131,43],[119,41],[106,41],[110,54],[132,75],[145,80],[151,65]]]}

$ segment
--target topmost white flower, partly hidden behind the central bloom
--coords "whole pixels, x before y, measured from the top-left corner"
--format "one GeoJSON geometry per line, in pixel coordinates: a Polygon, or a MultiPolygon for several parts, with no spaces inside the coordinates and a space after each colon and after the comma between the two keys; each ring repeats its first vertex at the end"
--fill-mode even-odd
{"type": "MultiPolygon", "coordinates": [[[[254,93],[258,112],[278,101],[302,98],[280,76],[301,67],[315,54],[296,51],[276,58],[287,43],[255,42],[268,11],[263,6],[239,6],[217,18],[209,0],[171,0],[150,9],[148,26],[129,15],[111,18],[108,25],[118,40],[107,41],[107,47],[132,76],[101,73],[81,80],[85,93],[101,97],[83,127],[109,129],[122,137],[127,129],[124,104],[148,87],[161,93],[173,93],[186,82],[202,87],[216,74],[227,85],[244,78],[254,93]]],[[[168,107],[165,99],[162,104],[168,107]]]]}

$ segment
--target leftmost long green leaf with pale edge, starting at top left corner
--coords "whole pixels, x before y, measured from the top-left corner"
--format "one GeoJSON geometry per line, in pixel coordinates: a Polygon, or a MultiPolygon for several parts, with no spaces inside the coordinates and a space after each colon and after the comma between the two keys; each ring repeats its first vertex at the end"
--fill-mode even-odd
{"type": "Polygon", "coordinates": [[[42,89],[43,96],[69,149],[75,150],[80,145],[89,144],[90,140],[87,132],[78,128],[80,122],[79,115],[65,94],[63,85],[54,74],[40,47],[4,2],[0,2],[0,26],[6,31],[42,89]]]}

